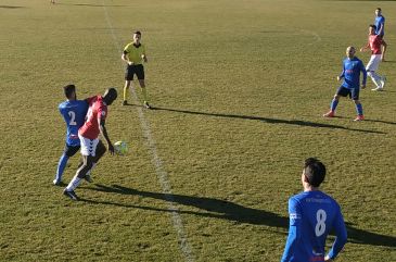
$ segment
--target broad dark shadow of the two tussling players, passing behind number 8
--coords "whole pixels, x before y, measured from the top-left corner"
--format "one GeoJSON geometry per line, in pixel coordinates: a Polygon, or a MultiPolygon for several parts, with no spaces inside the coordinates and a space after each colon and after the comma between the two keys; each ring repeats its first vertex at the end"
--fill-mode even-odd
{"type": "MultiPolygon", "coordinates": [[[[158,209],[151,207],[141,207],[133,204],[120,204],[115,202],[106,202],[106,201],[95,201],[89,199],[81,199],[87,203],[92,204],[110,204],[117,205],[124,208],[136,208],[142,210],[150,211],[159,211],[159,212],[177,212],[180,214],[193,214],[204,217],[214,217],[221,220],[234,221],[238,223],[247,223],[253,225],[267,225],[271,227],[282,227],[289,228],[289,219],[284,216],[280,216],[278,214],[267,212],[258,209],[245,208],[243,205],[226,201],[219,200],[215,198],[202,198],[202,197],[191,197],[183,195],[175,195],[175,194],[162,194],[162,192],[150,192],[150,191],[140,191],[128,187],[123,187],[119,185],[113,185],[111,187],[95,184],[95,188],[86,187],[86,189],[97,190],[102,192],[111,192],[111,194],[120,194],[128,196],[140,196],[145,198],[159,199],[167,202],[173,202],[176,204],[182,204],[187,207],[194,207],[207,212],[195,212],[195,211],[181,211],[181,210],[171,210],[171,209],[158,209]]],[[[358,229],[353,227],[350,224],[346,225],[348,232],[348,241],[355,244],[370,245],[370,246],[384,246],[384,247],[396,247],[396,237],[380,235],[362,229],[358,229]]]]}

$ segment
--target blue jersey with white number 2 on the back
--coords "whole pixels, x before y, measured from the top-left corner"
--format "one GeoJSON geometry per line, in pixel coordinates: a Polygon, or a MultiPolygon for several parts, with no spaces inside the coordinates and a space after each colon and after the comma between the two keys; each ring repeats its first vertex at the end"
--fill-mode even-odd
{"type": "Polygon", "coordinates": [[[64,101],[59,105],[64,121],[66,122],[66,144],[79,146],[78,129],[82,126],[88,111],[88,103],[85,100],[64,101]]]}

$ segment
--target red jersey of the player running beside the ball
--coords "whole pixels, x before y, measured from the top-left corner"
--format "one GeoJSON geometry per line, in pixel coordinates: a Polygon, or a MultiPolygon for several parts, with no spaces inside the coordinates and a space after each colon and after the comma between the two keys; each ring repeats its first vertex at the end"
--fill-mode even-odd
{"type": "Polygon", "coordinates": [[[88,139],[97,139],[100,134],[99,125],[101,120],[107,116],[107,105],[102,96],[94,96],[87,99],[89,104],[86,123],[79,128],[78,133],[88,139]]]}

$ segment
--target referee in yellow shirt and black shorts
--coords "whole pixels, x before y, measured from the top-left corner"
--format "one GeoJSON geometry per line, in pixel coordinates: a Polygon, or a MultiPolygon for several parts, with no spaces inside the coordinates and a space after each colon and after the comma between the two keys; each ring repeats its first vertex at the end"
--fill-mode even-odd
{"type": "Polygon", "coordinates": [[[130,87],[131,80],[133,80],[133,75],[136,74],[139,80],[140,88],[142,90],[144,107],[151,109],[148,101],[148,92],[144,83],[144,67],[142,62],[148,62],[148,57],[145,55],[145,47],[140,42],[142,34],[137,30],[133,33],[133,41],[129,42],[125,48],[122,59],[127,62],[127,68],[125,72],[125,86],[124,86],[124,100],[123,105],[128,104],[127,102],[127,89],[130,87]]]}

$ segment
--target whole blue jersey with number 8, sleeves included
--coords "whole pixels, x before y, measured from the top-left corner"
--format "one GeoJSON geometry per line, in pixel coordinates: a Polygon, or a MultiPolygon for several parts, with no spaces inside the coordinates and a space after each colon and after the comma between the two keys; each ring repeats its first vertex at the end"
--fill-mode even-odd
{"type": "Polygon", "coordinates": [[[334,259],[346,242],[346,227],[340,205],[322,191],[305,191],[289,199],[290,227],[281,262],[324,261],[325,238],[336,239],[328,255],[334,259]]]}

